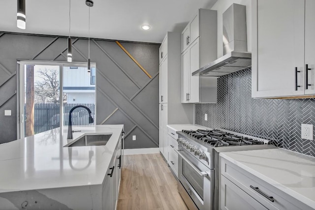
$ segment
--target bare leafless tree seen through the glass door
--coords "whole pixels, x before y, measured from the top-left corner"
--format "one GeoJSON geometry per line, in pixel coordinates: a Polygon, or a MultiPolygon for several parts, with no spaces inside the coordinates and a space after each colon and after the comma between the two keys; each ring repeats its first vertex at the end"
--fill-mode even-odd
{"type": "MultiPolygon", "coordinates": [[[[59,103],[59,71],[56,69],[40,69],[39,78],[35,82],[35,102],[36,103],[59,103]]],[[[63,101],[66,94],[63,93],[63,101]]]]}

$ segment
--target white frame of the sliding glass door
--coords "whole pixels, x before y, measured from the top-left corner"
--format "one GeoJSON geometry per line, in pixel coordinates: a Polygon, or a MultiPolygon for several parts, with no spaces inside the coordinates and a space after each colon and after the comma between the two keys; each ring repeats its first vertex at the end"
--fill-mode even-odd
{"type": "MultiPolygon", "coordinates": [[[[49,60],[17,60],[17,139],[24,138],[24,106],[25,103],[25,91],[24,91],[24,65],[54,65],[59,66],[59,101],[63,100],[63,66],[81,66],[88,67],[87,62],[66,62],[66,61],[49,61],[49,60]]],[[[96,75],[96,63],[91,62],[91,67],[95,67],[96,75]]],[[[59,125],[63,127],[63,106],[59,107],[59,125]]],[[[96,80],[95,80],[95,122],[96,122],[96,80]]]]}

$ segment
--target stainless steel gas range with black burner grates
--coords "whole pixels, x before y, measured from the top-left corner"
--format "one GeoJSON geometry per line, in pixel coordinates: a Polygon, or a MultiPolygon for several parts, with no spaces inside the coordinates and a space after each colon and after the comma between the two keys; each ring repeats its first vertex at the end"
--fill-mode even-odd
{"type": "Polygon", "coordinates": [[[224,129],[176,133],[178,190],[189,210],[219,209],[219,152],[276,148],[269,140],[224,129]]]}

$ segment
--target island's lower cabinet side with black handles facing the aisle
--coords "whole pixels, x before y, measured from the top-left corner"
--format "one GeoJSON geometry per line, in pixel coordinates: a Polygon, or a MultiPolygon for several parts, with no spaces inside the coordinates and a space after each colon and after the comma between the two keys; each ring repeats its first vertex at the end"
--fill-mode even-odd
{"type": "Polygon", "coordinates": [[[120,141],[113,154],[112,161],[107,171],[107,177],[102,184],[102,209],[116,210],[119,185],[121,180],[122,142],[120,141]]]}

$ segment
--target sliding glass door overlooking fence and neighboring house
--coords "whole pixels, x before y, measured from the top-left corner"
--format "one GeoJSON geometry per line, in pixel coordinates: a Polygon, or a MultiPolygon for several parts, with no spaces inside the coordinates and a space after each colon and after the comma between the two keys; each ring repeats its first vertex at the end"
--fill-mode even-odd
{"type": "MultiPolygon", "coordinates": [[[[19,77],[20,138],[67,125],[76,105],[89,107],[95,118],[95,63],[90,75],[86,63],[20,61],[19,77]]],[[[88,125],[85,109],[74,110],[72,124],[88,125]]]]}

